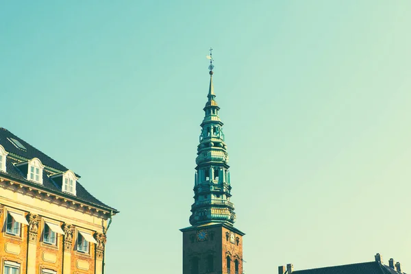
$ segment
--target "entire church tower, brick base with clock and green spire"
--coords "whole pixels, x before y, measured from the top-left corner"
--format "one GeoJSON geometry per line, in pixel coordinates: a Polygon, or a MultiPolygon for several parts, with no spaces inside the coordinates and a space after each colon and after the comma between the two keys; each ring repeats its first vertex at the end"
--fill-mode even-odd
{"type": "Polygon", "coordinates": [[[200,125],[191,226],[180,229],[183,274],[242,274],[242,236],[245,234],[234,227],[236,214],[234,204],[229,201],[232,186],[223,123],[212,85],[212,49],[208,58],[210,87],[200,125]]]}

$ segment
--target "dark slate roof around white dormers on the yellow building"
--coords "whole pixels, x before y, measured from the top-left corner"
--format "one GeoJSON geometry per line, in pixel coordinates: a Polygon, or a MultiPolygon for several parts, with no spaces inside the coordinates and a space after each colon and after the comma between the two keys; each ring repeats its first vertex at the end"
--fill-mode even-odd
{"type": "MultiPolygon", "coordinates": [[[[29,145],[29,143],[25,142],[25,140],[18,138],[18,136],[15,136],[14,134],[12,134],[11,132],[9,132],[7,129],[3,127],[0,127],[0,145],[2,145],[5,151],[9,153],[8,159],[6,161],[6,165],[7,165],[6,173],[4,173],[3,171],[0,171],[0,174],[2,174],[3,176],[8,176],[8,177],[11,177],[12,179],[17,179],[20,182],[24,182],[25,184],[32,185],[36,188],[42,188],[45,190],[49,190],[51,192],[58,192],[58,194],[69,197],[70,199],[75,199],[75,200],[77,199],[79,201],[92,204],[94,206],[105,208],[106,210],[113,210],[114,213],[118,213],[118,211],[115,210],[114,208],[107,206],[105,203],[99,201],[99,199],[92,196],[90,192],[88,192],[86,188],[84,188],[82,184],[80,184],[78,181],[75,184],[76,185],[76,195],[75,196],[70,195],[69,193],[66,193],[66,192],[62,192],[62,189],[58,187],[58,185],[55,184],[55,182],[53,182],[53,179],[51,179],[47,175],[47,172],[45,170],[43,170],[43,175],[42,175],[43,184],[42,185],[28,181],[23,175],[23,173],[21,173],[21,171],[16,166],[14,166],[14,164],[17,161],[10,159],[9,158],[10,154],[18,155],[19,157],[25,158],[27,160],[38,158],[44,166],[48,166],[52,169],[61,171],[62,173],[65,171],[68,171],[69,169],[67,169],[65,166],[63,166],[59,162],[53,160],[49,156],[45,155],[45,153],[42,153],[41,151],[39,151],[32,145],[29,145]],[[10,140],[8,140],[8,138],[13,138],[15,140],[18,140],[18,142],[21,142],[21,144],[25,146],[26,150],[18,149],[12,144],[12,142],[10,142],[10,140]]],[[[77,177],[79,176],[77,175],[77,177]]]]}

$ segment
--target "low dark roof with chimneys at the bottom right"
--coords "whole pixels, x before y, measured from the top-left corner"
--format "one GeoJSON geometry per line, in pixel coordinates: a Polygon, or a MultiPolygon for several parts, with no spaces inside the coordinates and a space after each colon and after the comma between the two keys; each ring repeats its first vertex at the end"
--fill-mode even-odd
{"type": "Polygon", "coordinates": [[[328,266],[320,269],[306,269],[292,271],[295,274],[394,274],[388,266],[379,262],[360,262],[358,264],[345,264],[340,266],[328,266]]]}

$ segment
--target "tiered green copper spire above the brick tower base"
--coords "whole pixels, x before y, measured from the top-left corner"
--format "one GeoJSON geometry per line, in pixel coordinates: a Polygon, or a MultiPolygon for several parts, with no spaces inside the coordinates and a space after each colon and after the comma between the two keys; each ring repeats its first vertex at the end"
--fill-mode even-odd
{"type": "Polygon", "coordinates": [[[191,225],[206,223],[227,223],[236,221],[234,204],[229,201],[231,195],[227,145],[224,142],[223,123],[219,117],[219,105],[214,100],[212,75],[212,49],[210,55],[210,88],[208,101],[203,108],[205,115],[201,123],[201,134],[197,147],[196,173],[194,186],[195,203],[191,206],[191,225]]]}

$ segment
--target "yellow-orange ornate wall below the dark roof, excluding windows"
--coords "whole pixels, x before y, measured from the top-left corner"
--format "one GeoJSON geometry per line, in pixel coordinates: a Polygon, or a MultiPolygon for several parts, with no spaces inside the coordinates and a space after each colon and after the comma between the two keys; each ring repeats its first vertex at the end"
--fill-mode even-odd
{"type": "Polygon", "coordinates": [[[41,273],[42,269],[58,274],[102,272],[103,227],[107,225],[102,212],[0,178],[0,225],[0,274],[3,274],[5,260],[21,264],[20,273],[27,274],[41,273]],[[23,214],[29,221],[30,225],[21,225],[20,236],[5,233],[8,210],[23,214]],[[64,234],[56,234],[56,245],[43,242],[45,221],[64,229],[64,234]],[[98,239],[97,244],[89,243],[88,254],[76,250],[79,229],[98,239]]]}

